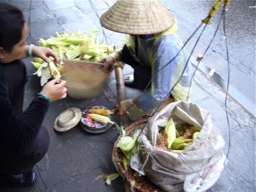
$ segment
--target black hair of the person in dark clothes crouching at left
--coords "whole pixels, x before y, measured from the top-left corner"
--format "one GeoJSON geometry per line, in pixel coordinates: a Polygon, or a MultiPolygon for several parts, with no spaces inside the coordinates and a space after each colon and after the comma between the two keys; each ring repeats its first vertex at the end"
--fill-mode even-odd
{"type": "Polygon", "coordinates": [[[22,11],[9,4],[0,3],[0,47],[11,52],[22,39],[24,23],[22,11]]]}

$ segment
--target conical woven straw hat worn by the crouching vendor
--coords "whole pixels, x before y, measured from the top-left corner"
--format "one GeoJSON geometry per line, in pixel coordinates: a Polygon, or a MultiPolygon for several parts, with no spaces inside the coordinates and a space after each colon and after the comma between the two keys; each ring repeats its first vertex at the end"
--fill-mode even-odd
{"type": "Polygon", "coordinates": [[[174,23],[174,16],[157,0],[119,0],[100,17],[104,28],[136,35],[159,33],[174,23]]]}

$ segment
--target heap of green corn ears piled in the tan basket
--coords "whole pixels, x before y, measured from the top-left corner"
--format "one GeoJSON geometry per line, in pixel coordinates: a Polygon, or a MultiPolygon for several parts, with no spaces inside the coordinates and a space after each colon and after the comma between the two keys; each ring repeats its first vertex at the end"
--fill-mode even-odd
{"type": "MultiPolygon", "coordinates": [[[[96,32],[98,31],[83,33],[78,31],[77,33],[70,34],[66,32],[59,34],[56,32],[54,37],[48,39],[40,38],[39,46],[48,47],[57,54],[60,63],[56,67],[61,74],[65,70],[63,66],[63,60],[65,59],[96,62],[103,57],[108,57],[109,54],[114,52],[113,46],[106,45],[106,42],[100,44],[96,32]]],[[[53,60],[52,57],[50,59],[53,60]]],[[[34,75],[38,77],[45,76],[44,78],[46,79],[51,78],[47,74],[49,71],[48,63],[38,57],[35,57],[31,63],[34,69],[37,70],[34,75]]],[[[43,86],[43,83],[46,83],[45,80],[41,82],[41,86],[43,86]]]]}

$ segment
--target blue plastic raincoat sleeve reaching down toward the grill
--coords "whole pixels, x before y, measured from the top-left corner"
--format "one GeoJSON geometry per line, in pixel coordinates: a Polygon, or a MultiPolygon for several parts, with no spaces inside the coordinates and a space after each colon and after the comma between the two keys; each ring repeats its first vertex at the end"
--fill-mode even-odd
{"type": "Polygon", "coordinates": [[[182,54],[179,53],[179,48],[180,45],[176,44],[172,36],[155,41],[152,46],[148,62],[152,66],[153,80],[151,87],[137,101],[142,111],[155,109],[167,97],[181,75],[183,62],[181,65],[182,54]]]}

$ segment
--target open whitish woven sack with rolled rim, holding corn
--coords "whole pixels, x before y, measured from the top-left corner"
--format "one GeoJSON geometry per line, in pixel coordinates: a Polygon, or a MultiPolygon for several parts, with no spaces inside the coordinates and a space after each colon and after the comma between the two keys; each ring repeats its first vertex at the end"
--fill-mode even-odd
{"type": "Polygon", "coordinates": [[[165,191],[180,191],[186,175],[198,173],[222,157],[224,140],[212,125],[210,113],[197,104],[170,103],[147,123],[139,137],[140,169],[165,191]],[[201,127],[197,139],[181,154],[156,146],[157,135],[173,116],[175,124],[189,123],[201,127]],[[180,185],[179,185],[180,183],[180,185]]]}

